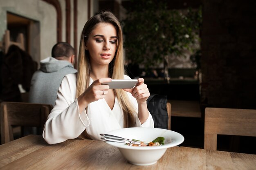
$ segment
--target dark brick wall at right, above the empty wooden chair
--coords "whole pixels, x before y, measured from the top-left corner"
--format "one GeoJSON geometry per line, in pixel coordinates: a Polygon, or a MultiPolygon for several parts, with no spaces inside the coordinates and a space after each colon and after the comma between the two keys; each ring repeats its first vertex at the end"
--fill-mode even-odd
{"type": "Polygon", "coordinates": [[[202,104],[256,109],[256,2],[202,2],[202,104]]]}

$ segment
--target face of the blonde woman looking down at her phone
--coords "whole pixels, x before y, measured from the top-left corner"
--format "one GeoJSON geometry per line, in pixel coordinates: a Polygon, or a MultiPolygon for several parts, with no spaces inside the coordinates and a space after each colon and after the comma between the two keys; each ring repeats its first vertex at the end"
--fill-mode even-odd
{"type": "Polygon", "coordinates": [[[100,23],[90,33],[86,44],[92,65],[109,64],[117,49],[117,31],[112,24],[100,23]]]}

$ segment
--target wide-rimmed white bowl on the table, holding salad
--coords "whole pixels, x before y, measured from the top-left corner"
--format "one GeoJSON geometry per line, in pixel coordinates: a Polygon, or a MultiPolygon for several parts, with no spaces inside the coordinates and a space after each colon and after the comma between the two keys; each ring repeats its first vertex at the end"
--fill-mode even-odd
{"type": "Polygon", "coordinates": [[[127,146],[117,142],[106,142],[117,147],[129,163],[140,166],[156,163],[164,155],[167,148],[177,146],[184,141],[184,137],[180,133],[160,128],[123,128],[110,131],[108,134],[147,142],[153,141],[157,137],[164,137],[165,139],[171,137],[171,143],[162,146],[127,146]]]}

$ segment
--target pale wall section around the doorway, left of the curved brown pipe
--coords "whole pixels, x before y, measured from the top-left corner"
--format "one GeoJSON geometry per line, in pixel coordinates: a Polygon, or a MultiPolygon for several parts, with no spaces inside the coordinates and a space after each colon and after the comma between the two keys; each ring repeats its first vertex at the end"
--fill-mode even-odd
{"type": "MultiPolygon", "coordinates": [[[[33,60],[39,61],[49,56],[56,43],[56,10],[41,0],[0,0],[0,41],[7,29],[7,12],[31,20],[30,50],[33,60]],[[54,20],[55,19],[55,20],[54,20]]],[[[17,30],[18,32],[18,30],[17,30]]],[[[11,34],[11,33],[10,33],[11,34]]]]}

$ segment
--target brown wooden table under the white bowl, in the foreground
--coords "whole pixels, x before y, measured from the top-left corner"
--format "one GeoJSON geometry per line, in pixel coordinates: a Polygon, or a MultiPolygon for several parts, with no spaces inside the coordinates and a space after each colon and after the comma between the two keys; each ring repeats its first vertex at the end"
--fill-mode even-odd
{"type": "Polygon", "coordinates": [[[255,170],[256,155],[176,146],[154,165],[135,166],[103,141],[72,139],[49,145],[42,136],[29,135],[0,146],[0,169],[255,170]]]}

